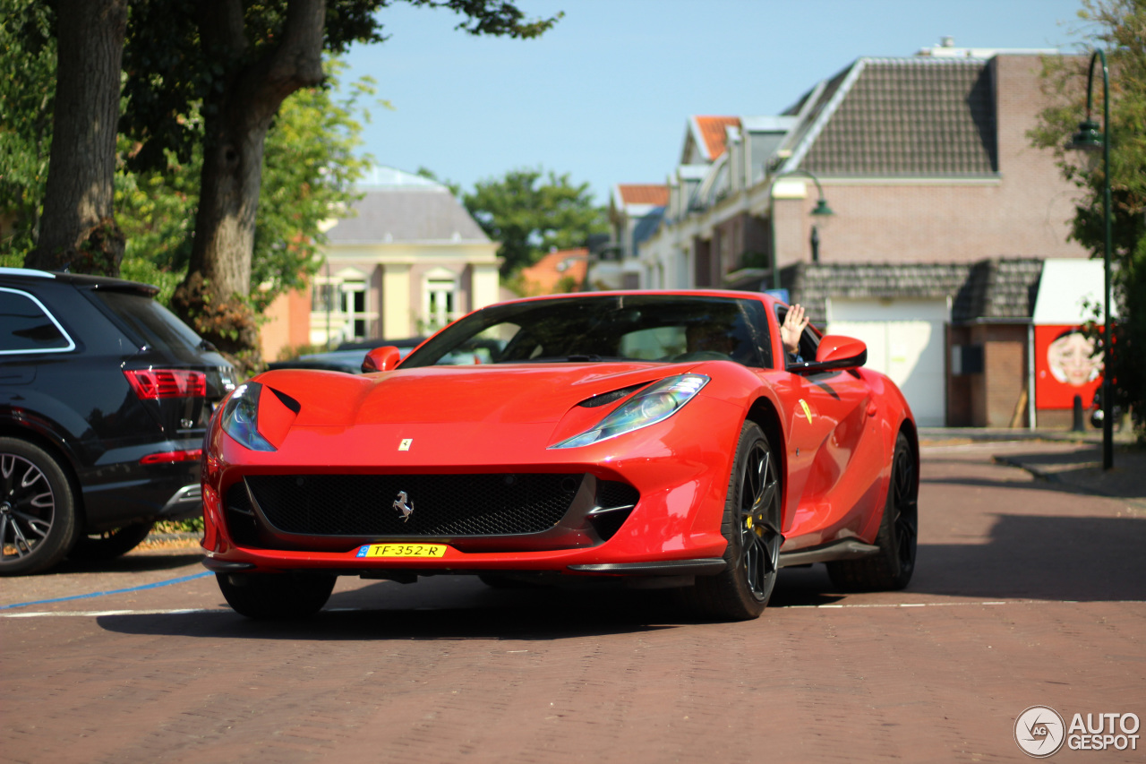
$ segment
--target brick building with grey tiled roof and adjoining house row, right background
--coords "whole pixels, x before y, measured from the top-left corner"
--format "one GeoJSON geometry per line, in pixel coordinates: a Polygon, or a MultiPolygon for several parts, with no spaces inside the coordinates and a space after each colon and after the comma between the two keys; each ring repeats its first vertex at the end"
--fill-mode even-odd
{"type": "Polygon", "coordinates": [[[1074,187],[1027,137],[1049,53],[859,59],[783,115],[691,119],[642,286],[786,289],[868,342],[921,424],[1030,424],[1042,263],[1089,257],[1074,187]]]}

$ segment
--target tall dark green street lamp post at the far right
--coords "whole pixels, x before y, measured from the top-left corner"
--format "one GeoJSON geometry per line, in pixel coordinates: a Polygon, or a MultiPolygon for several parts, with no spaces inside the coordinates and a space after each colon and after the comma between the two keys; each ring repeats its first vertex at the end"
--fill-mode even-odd
{"type": "Polygon", "coordinates": [[[1114,396],[1110,393],[1110,359],[1114,356],[1114,337],[1110,335],[1110,239],[1113,221],[1110,219],[1110,80],[1106,68],[1106,54],[1094,50],[1090,57],[1090,72],[1086,75],[1086,119],[1078,125],[1067,148],[1094,153],[1102,149],[1102,223],[1105,240],[1102,242],[1102,469],[1114,467],[1114,396]],[[1094,83],[1094,63],[1102,63],[1102,131],[1098,123],[1091,119],[1092,91],[1094,83]]]}

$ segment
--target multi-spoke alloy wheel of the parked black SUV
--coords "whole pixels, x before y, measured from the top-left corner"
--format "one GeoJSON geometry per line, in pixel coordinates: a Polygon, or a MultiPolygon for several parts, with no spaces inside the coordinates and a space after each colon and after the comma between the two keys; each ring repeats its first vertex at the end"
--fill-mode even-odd
{"type": "Polygon", "coordinates": [[[37,445],[0,438],[0,575],[46,570],[74,540],[76,501],[63,469],[37,445]]]}

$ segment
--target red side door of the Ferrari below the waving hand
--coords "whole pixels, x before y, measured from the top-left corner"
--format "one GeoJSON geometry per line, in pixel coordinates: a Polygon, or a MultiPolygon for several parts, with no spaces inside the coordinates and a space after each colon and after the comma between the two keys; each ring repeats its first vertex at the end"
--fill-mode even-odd
{"type": "MultiPolygon", "coordinates": [[[[815,359],[818,342],[804,329],[803,360],[815,359]]],[[[798,374],[792,367],[778,375],[788,459],[784,535],[792,539],[784,548],[865,536],[887,462],[871,389],[854,369],[798,374]]]]}

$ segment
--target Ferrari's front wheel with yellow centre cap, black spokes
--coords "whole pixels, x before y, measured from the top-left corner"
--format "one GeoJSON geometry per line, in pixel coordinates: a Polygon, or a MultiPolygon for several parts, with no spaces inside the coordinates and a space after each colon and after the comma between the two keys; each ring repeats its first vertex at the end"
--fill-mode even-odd
{"type": "Polygon", "coordinates": [[[727,567],[698,577],[696,606],[723,621],[748,621],[764,611],[779,570],[779,465],[755,422],[745,422],[729,477],[721,533],[728,540],[727,567]]]}

